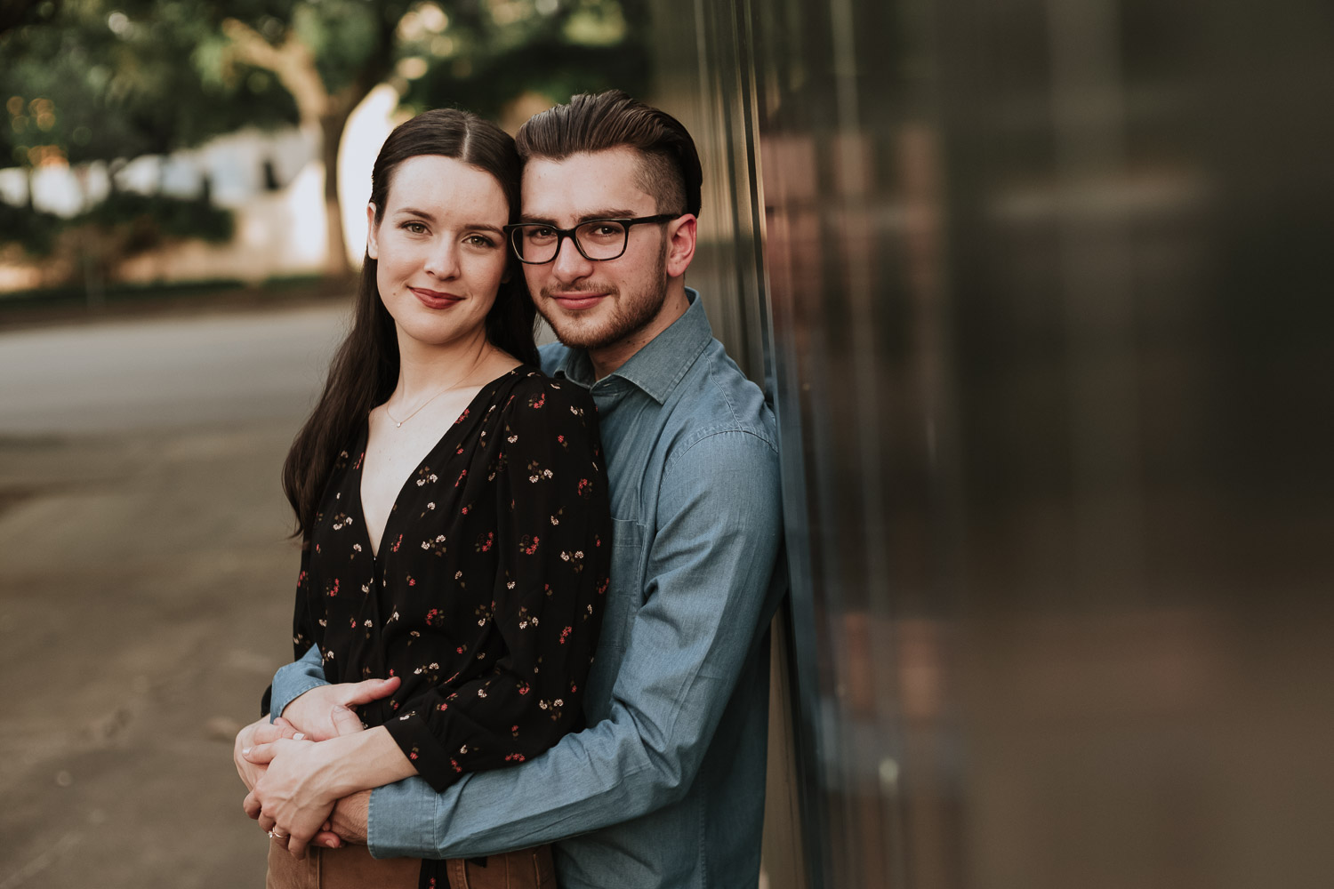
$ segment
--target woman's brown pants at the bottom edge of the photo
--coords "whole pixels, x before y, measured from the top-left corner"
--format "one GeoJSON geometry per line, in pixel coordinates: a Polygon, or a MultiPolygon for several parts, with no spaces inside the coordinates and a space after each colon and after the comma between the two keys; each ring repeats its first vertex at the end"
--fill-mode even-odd
{"type": "MultiPolygon", "coordinates": [[[[450,858],[444,868],[450,889],[556,889],[550,845],[487,858],[450,858]]],[[[420,873],[420,858],[372,858],[366,846],[312,846],[305,860],[297,861],[271,841],[264,888],[416,889],[420,873]]]]}

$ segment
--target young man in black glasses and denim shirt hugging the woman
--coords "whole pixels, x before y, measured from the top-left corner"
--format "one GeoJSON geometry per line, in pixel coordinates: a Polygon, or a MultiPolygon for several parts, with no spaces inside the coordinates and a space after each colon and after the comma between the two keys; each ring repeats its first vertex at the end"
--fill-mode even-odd
{"type": "MultiPolygon", "coordinates": [[[[563,889],[754,886],[766,625],[784,580],[778,449],[760,391],[684,285],[699,157],[675,119],[620,92],[536,115],[518,144],[511,244],[562,343],[543,349],[543,369],[592,393],[611,480],[588,728],[444,793],[422,778],[379,788],[368,825],[360,794],[339,804],[335,826],[376,857],[559,841],[563,889]]],[[[323,682],[315,654],[275,677],[275,713],[323,682]]]]}

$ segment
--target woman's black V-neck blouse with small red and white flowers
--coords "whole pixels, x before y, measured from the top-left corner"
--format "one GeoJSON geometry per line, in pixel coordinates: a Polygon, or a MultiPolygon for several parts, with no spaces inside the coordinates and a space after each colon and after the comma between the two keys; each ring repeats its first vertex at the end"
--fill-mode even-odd
{"type": "Polygon", "coordinates": [[[484,385],[404,482],[378,556],[367,427],[340,454],[297,581],[295,649],[331,682],[402,677],[360,708],[442,790],[582,726],[611,520],[586,392],[530,367],[484,385]]]}

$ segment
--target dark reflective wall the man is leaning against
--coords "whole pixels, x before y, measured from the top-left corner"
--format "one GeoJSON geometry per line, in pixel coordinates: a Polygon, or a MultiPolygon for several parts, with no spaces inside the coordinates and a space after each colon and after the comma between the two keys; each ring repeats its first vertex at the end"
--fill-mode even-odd
{"type": "Polygon", "coordinates": [[[1243,5],[656,4],[783,436],[775,889],[1329,884],[1334,7],[1243,5]]]}

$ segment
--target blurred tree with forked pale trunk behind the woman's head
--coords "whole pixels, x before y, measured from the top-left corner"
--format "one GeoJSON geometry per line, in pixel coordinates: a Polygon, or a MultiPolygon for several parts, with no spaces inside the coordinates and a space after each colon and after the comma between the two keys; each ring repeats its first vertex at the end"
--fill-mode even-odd
{"type": "Polygon", "coordinates": [[[618,0],[256,0],[229,3],[203,55],[219,71],[272,71],[323,137],[328,273],[348,271],[338,149],[348,116],[390,81],[404,104],[463,105],[500,119],[523,96],[548,104],[576,89],[643,89],[644,4],[618,0]],[[627,12],[628,9],[628,12],[627,12]]]}

